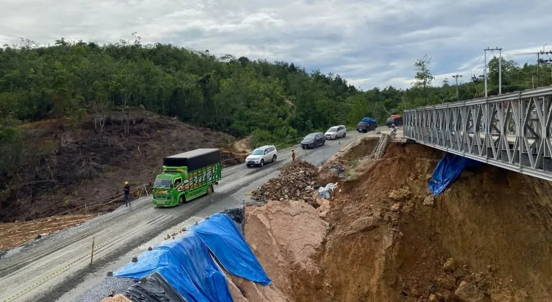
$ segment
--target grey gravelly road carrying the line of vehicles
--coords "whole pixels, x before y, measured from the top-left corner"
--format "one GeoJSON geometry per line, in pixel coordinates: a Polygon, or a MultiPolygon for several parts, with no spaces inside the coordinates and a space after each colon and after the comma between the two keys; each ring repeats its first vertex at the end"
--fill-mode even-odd
{"type": "MultiPolygon", "coordinates": [[[[320,165],[352,139],[365,135],[351,131],[339,141],[326,141],[326,145],[306,151],[296,147],[295,152],[298,159],[320,165]]],[[[248,199],[247,192],[277,177],[278,168],[290,161],[290,149],[280,150],[277,162],[263,168],[248,169],[241,164],[224,169],[222,180],[210,197],[173,208],[154,208],[151,196],[144,197],[130,208],[120,207],[10,250],[0,258],[0,301],[76,301],[102,283],[108,270],[123,266],[147,246],[162,241],[167,233],[194,219],[240,206],[248,199]],[[94,255],[90,265],[92,241],[94,255]]]]}

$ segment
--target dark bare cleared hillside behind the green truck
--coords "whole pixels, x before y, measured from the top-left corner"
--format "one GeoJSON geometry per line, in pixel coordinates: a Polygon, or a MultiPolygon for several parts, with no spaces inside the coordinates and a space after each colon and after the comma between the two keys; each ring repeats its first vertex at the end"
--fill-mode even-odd
{"type": "MultiPolygon", "coordinates": [[[[103,128],[93,115],[82,125],[62,128],[57,121],[22,125],[24,158],[9,182],[0,181],[0,221],[30,220],[109,198],[131,187],[150,184],[162,158],[195,148],[227,147],[233,138],[174,118],[134,109],[126,133],[120,112],[107,114],[103,128]]],[[[224,165],[243,162],[222,154],[224,165]]],[[[96,207],[101,213],[116,204],[96,207]]]]}

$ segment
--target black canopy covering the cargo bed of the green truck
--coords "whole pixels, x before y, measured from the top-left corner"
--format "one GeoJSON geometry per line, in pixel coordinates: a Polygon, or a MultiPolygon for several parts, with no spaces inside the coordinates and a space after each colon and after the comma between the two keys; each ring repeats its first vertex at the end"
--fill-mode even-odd
{"type": "Polygon", "coordinates": [[[220,149],[195,149],[181,154],[163,158],[164,166],[187,166],[188,171],[194,171],[204,166],[220,162],[220,149]]]}

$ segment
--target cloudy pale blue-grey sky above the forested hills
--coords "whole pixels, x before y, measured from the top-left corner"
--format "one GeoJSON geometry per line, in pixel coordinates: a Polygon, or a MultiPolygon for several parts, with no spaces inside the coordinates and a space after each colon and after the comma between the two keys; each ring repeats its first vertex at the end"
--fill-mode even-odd
{"type": "Polygon", "coordinates": [[[0,0],[0,45],[116,42],[136,31],[142,44],[295,62],[362,89],[407,88],[424,53],[434,84],[482,74],[486,47],[535,62],[527,52],[552,48],[551,11],[542,0],[0,0]]]}

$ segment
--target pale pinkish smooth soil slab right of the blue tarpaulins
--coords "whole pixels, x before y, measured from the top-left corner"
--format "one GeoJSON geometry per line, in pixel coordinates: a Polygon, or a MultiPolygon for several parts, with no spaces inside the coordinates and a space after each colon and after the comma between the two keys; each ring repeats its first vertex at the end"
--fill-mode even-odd
{"type": "Polygon", "coordinates": [[[302,293],[319,289],[311,285],[322,278],[317,258],[327,224],[312,206],[302,201],[270,201],[247,207],[245,217],[245,238],[286,300],[300,301],[297,297],[302,293]]]}

